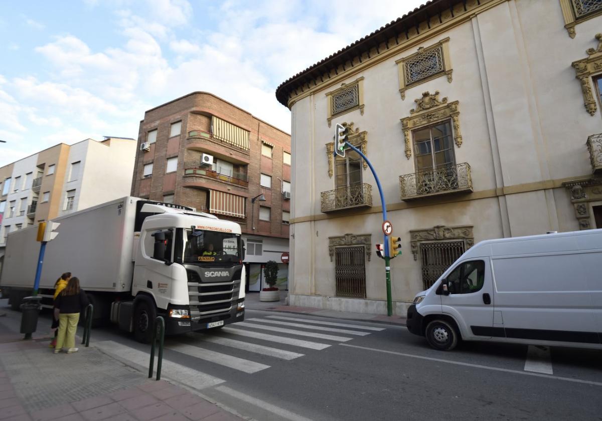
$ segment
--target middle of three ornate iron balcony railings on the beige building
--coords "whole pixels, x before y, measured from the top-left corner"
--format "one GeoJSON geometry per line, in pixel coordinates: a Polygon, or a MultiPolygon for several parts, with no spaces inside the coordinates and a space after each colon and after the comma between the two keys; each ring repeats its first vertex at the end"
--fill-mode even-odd
{"type": "Polygon", "coordinates": [[[473,191],[470,165],[467,163],[406,174],[399,177],[399,184],[402,200],[473,191]]]}

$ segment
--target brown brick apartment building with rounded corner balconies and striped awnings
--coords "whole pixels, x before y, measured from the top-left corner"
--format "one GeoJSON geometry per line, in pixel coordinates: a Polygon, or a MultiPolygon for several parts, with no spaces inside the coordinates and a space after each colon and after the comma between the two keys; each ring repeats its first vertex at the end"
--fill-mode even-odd
{"type": "MultiPolygon", "coordinates": [[[[288,252],[290,152],[289,134],[213,94],[193,92],[144,113],[132,195],[240,224],[247,286],[258,291],[262,263],[281,263],[288,252]]],[[[284,289],[287,265],[279,266],[284,289]]]]}

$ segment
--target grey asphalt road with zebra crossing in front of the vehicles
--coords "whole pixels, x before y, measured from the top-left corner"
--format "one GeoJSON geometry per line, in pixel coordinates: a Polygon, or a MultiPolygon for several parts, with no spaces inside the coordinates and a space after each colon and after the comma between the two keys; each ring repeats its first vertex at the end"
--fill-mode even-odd
{"type": "MultiPolygon", "coordinates": [[[[140,367],[149,352],[111,327],[93,330],[92,344],[140,367]]],[[[602,420],[602,351],[536,349],[534,359],[524,345],[461,343],[441,352],[405,327],[258,310],[166,348],[164,378],[256,420],[602,420]]]]}

